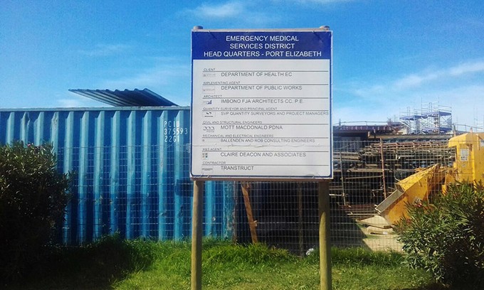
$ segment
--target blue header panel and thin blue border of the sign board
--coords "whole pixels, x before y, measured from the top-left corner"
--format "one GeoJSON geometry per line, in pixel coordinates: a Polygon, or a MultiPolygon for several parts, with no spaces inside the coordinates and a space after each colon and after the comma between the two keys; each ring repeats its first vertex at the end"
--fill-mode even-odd
{"type": "Polygon", "coordinates": [[[190,175],[194,179],[263,180],[330,179],[333,176],[332,136],[332,31],[191,31],[190,143],[193,144],[194,60],[226,59],[327,59],[330,60],[330,174],[328,176],[204,176],[194,175],[192,150],[190,175]],[[233,43],[238,43],[234,45],[233,43]],[[262,46],[261,46],[262,45],[262,46]],[[270,53],[281,51],[282,53],[270,53]]]}

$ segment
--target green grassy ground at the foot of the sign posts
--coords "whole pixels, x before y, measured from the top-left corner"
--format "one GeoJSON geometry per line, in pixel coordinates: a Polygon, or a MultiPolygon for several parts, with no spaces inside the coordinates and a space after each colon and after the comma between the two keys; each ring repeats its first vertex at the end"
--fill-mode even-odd
{"type": "MultiPolygon", "coordinates": [[[[188,242],[124,241],[52,250],[6,289],[190,289],[188,242]]],[[[264,245],[204,241],[204,289],[319,289],[318,254],[300,258],[264,245]]],[[[402,264],[401,254],[332,249],[333,289],[443,290],[402,264]]]]}

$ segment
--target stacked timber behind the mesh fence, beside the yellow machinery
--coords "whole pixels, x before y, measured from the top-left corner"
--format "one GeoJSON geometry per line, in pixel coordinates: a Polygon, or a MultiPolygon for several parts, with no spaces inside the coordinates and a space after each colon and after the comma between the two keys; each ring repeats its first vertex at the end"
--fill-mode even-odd
{"type": "Polygon", "coordinates": [[[395,183],[439,163],[452,166],[455,151],[446,140],[369,142],[358,150],[333,154],[332,196],[344,205],[378,204],[394,190],[395,183]]]}

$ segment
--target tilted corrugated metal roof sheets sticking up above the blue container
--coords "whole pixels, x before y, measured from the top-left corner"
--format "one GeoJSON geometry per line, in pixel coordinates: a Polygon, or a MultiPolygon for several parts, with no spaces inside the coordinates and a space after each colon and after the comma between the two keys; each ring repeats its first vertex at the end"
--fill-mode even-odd
{"type": "Polygon", "coordinates": [[[78,95],[89,97],[115,107],[177,106],[174,102],[146,88],[144,90],[135,89],[124,91],[70,89],[69,92],[75,92],[78,95]]]}

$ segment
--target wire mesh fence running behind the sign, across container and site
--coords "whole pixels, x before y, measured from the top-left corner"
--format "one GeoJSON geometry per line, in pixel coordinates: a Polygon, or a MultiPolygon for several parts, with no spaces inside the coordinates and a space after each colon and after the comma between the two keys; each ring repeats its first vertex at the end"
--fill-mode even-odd
{"type": "MultiPolygon", "coordinates": [[[[180,142],[58,150],[59,168],[73,177],[59,240],[90,242],[115,232],[128,239],[189,239],[189,148],[180,142]]],[[[451,168],[455,156],[447,140],[335,141],[332,245],[401,249],[384,219],[385,202],[404,190],[402,181],[419,168],[451,168]]],[[[203,226],[205,236],[305,254],[318,245],[317,183],[207,181],[203,226]]]]}

